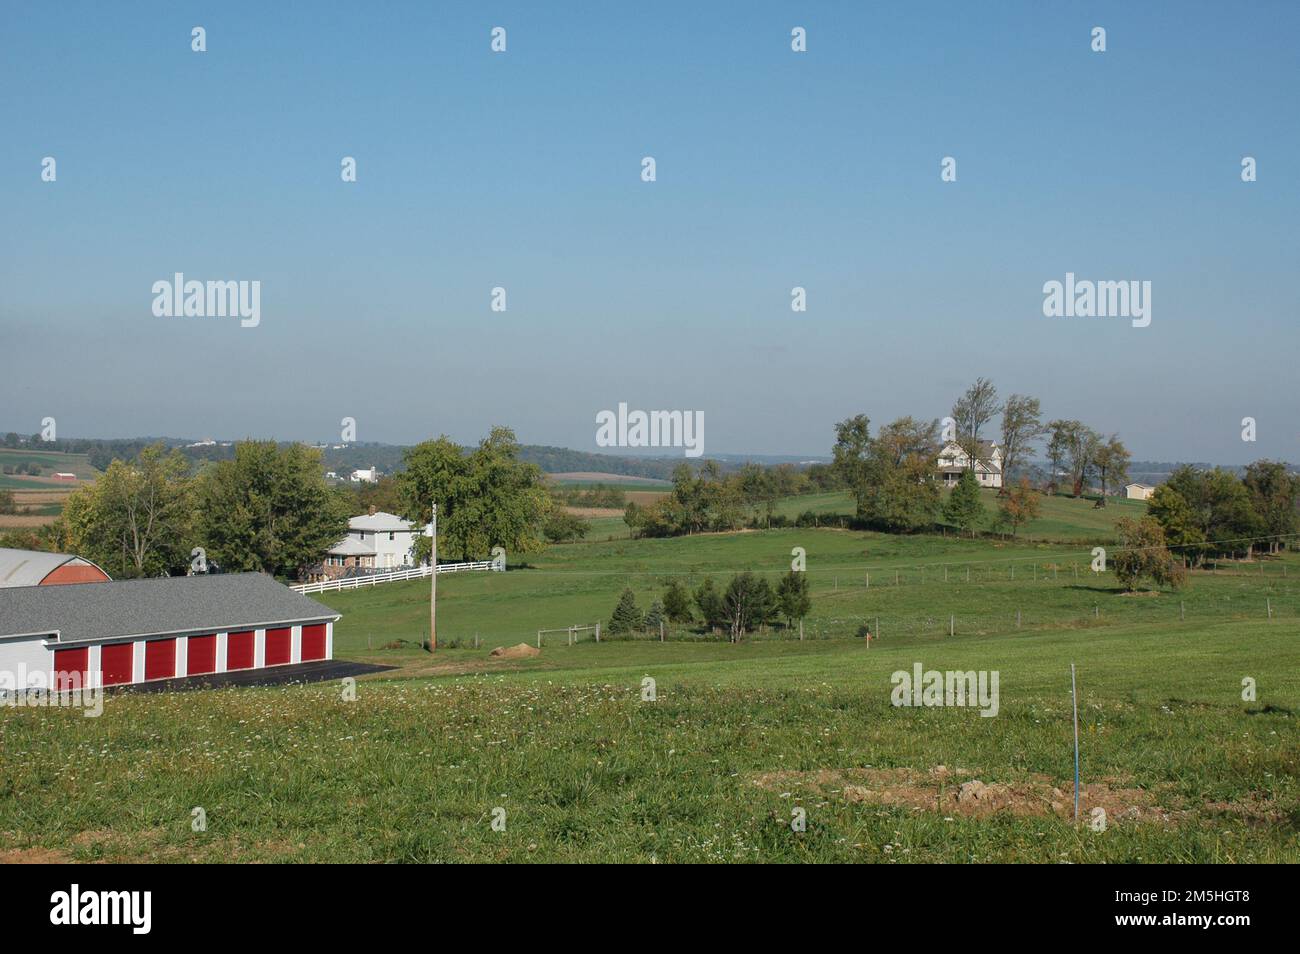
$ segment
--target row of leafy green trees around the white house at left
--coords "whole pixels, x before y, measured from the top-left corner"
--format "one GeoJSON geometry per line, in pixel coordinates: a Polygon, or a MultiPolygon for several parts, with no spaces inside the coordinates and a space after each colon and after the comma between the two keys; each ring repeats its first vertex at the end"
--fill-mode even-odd
{"type": "MultiPolygon", "coordinates": [[[[442,437],[407,448],[398,480],[363,490],[328,482],[320,450],[304,445],[242,441],[229,459],[195,464],[155,443],[130,461],[113,459],[52,524],[0,545],[78,554],[114,578],[217,568],[300,578],[343,539],[348,519],[367,512],[363,500],[381,500],[417,526],[438,503],[439,554],[532,552],[550,498],[541,471],[517,455],[508,428],[474,448],[442,437]]],[[[429,539],[417,539],[425,560],[429,539]]]]}

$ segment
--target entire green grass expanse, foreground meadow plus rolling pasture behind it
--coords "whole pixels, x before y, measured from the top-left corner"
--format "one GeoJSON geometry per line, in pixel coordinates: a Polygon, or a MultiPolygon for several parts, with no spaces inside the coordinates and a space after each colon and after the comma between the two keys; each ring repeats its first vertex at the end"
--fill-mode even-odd
{"type": "Polygon", "coordinates": [[[439,577],[432,658],[380,649],[424,637],[426,584],[329,594],[335,654],[399,667],[355,701],[318,685],[0,711],[0,860],[1300,860],[1300,559],[1127,597],[1089,556],[826,529],[552,547],[439,577]],[[794,546],[803,641],[488,656],[608,619],[625,584],[645,607],[671,576],[775,578],[794,546]],[[852,633],[876,616],[868,647],[852,633]],[[894,707],[890,676],[915,663],[996,671],[996,717],[894,707]],[[1105,808],[1105,831],[1071,818],[1071,663],[1083,815],[1105,808]]]}

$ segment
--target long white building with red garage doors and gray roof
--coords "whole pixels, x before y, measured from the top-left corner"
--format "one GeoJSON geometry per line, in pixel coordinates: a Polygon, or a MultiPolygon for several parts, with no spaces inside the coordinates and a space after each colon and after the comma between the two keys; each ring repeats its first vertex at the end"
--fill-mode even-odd
{"type": "Polygon", "coordinates": [[[338,619],[263,573],[0,587],[0,676],[72,689],[325,660],[338,619]]]}

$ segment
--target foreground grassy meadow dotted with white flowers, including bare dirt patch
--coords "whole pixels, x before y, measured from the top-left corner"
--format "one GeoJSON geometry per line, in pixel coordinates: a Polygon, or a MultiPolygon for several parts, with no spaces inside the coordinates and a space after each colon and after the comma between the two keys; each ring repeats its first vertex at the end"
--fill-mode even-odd
{"type": "Polygon", "coordinates": [[[1294,624],[438,665],[363,680],[355,702],[317,685],[0,714],[0,859],[1300,860],[1294,624]],[[997,669],[997,716],[890,706],[890,673],[916,662],[997,669]],[[1104,832],[1070,819],[1071,662],[1083,811],[1104,807],[1104,832]],[[1005,798],[962,801],[968,781],[1005,798]]]}

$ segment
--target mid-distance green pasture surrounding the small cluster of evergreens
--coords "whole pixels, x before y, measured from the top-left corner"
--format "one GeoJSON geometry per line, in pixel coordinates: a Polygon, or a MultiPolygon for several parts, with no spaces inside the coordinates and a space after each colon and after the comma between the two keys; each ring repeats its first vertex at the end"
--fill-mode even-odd
{"type": "MultiPolygon", "coordinates": [[[[1089,571],[1091,546],[902,537],[832,529],[781,529],[556,546],[507,573],[445,574],[438,581],[445,643],[532,641],[538,629],[608,620],[624,586],[642,610],[671,578],[694,586],[754,571],[775,582],[802,547],[812,591],[807,638],[848,638],[858,626],[939,637],[1031,628],[1096,628],[1176,619],[1300,617],[1300,565],[1290,558],[1196,572],[1182,594],[1126,595],[1112,573],[1089,571]],[[1262,572],[1261,572],[1262,571],[1262,572]],[[1018,616],[1019,613],[1019,616],[1018,616]]],[[[343,613],[339,655],[370,656],[391,641],[419,643],[428,630],[428,582],[386,584],[324,594],[343,613]]],[[[689,632],[673,638],[698,639],[689,632]]],[[[781,630],[767,637],[785,636],[781,630]]],[[[410,654],[417,654],[415,649],[410,654]]]]}

